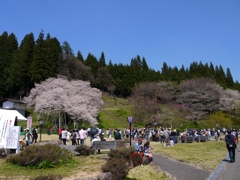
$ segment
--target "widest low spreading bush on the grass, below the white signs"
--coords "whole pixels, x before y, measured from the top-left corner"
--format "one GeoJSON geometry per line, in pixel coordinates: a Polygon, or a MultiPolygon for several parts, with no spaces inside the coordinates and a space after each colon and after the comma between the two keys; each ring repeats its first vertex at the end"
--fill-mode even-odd
{"type": "Polygon", "coordinates": [[[53,168],[62,162],[66,163],[71,160],[73,160],[73,155],[70,151],[51,144],[43,146],[31,145],[19,154],[7,157],[9,163],[41,169],[53,168]]]}

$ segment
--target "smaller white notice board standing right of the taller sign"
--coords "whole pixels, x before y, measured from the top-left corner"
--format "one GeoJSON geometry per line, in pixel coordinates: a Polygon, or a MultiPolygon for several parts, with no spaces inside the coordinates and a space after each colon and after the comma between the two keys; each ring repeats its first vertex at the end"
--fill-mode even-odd
{"type": "Polygon", "coordinates": [[[19,149],[20,129],[20,126],[10,126],[7,128],[6,148],[19,149]]]}

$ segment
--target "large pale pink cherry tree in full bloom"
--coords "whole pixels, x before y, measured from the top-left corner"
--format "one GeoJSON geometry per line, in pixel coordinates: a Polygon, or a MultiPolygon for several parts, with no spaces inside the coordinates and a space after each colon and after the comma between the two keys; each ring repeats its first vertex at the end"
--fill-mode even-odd
{"type": "Polygon", "coordinates": [[[64,114],[68,114],[74,124],[83,120],[96,125],[103,104],[101,97],[101,91],[92,88],[88,81],[68,81],[66,77],[58,76],[35,84],[24,102],[28,107],[34,107],[36,113],[58,114],[59,126],[64,114]]]}

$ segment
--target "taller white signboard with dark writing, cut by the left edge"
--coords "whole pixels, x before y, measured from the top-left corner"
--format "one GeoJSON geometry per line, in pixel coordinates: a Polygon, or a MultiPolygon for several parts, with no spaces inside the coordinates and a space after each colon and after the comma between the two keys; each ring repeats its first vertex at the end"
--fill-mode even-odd
{"type": "Polygon", "coordinates": [[[14,126],[14,120],[0,120],[0,148],[6,148],[6,133],[7,133],[7,128],[10,126],[14,126]]]}

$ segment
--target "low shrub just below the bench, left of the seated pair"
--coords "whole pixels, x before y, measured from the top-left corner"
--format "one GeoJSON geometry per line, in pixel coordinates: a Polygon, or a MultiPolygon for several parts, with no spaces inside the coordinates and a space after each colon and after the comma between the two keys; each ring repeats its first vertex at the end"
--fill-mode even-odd
{"type": "Polygon", "coordinates": [[[120,158],[120,159],[125,159],[127,161],[130,160],[130,157],[132,153],[134,152],[134,147],[119,147],[117,149],[113,149],[108,153],[108,156],[110,158],[120,158]]]}

